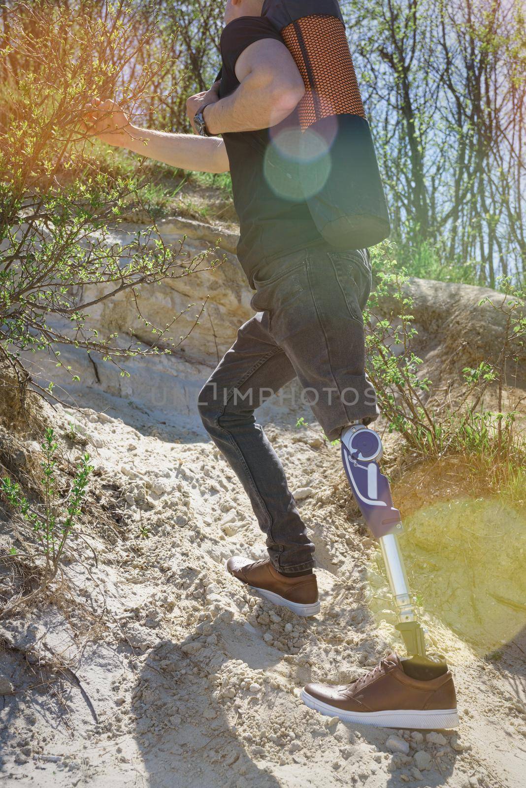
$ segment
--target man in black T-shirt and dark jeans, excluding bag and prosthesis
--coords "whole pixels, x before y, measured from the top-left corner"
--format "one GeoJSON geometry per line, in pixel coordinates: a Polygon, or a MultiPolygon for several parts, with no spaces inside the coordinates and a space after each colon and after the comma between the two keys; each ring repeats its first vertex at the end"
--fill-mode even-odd
{"type": "MultiPolygon", "coordinates": [[[[368,424],[377,417],[376,395],[365,374],[362,318],[372,278],[369,251],[329,247],[299,196],[302,163],[294,158],[294,134],[305,87],[279,33],[261,17],[262,6],[263,0],[227,2],[220,79],[187,102],[198,136],[136,128],[113,102],[94,102],[91,128],[109,144],[177,168],[230,169],[240,224],[238,257],[255,290],[251,304],[257,314],[239,329],[202,388],[198,406],[266,536],[268,557],[256,563],[232,557],[228,571],[274,604],[305,616],[320,610],[314,547],[254,410],[298,377],[329,439],[354,422],[368,424]]],[[[380,709],[421,708],[408,697],[405,705],[390,704],[388,685],[401,684],[410,694],[419,689],[415,684],[426,684],[428,698],[445,680],[428,676],[435,688],[409,677],[395,656],[370,677],[342,697],[338,688],[310,686],[310,700],[316,699],[315,708],[324,713],[345,719],[357,713],[374,724],[376,712],[369,720],[367,711],[379,704],[380,709]],[[379,675],[387,685],[379,686],[379,675]],[[368,706],[363,697],[369,684],[368,706]],[[354,698],[357,692],[361,701],[354,698]]]]}

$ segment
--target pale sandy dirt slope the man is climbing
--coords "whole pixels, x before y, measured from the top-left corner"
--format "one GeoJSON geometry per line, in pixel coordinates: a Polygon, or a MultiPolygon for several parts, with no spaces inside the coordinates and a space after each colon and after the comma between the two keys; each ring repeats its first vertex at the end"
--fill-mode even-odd
{"type": "MultiPolygon", "coordinates": [[[[228,283],[221,287],[226,298],[228,283]]],[[[232,292],[231,327],[246,299],[241,284],[239,298],[232,292]]],[[[80,411],[43,406],[61,479],[86,450],[95,471],[60,582],[35,608],[0,621],[2,778],[43,788],[523,786],[523,515],[452,486],[447,501],[429,468],[399,489],[424,622],[454,670],[457,731],[375,730],[318,716],[298,698],[305,682],[350,682],[400,648],[376,546],[335,494],[338,447],[316,426],[296,427],[298,409],[285,400],[265,407],[261,421],[291,489],[302,490],[320,615],[294,618],[224,571],[232,553],[261,557],[263,541],[196,418],[193,394],[210,354],[161,367],[134,362],[130,392],[101,364],[98,381],[91,370],[69,388],[80,411]],[[170,385],[172,399],[156,400],[153,389],[170,385]]],[[[36,438],[25,433],[22,452],[38,460],[36,438]]],[[[36,462],[31,474],[38,470],[36,462]]],[[[4,552],[13,538],[5,510],[4,552]]],[[[21,582],[9,569],[2,581],[21,582]]]]}

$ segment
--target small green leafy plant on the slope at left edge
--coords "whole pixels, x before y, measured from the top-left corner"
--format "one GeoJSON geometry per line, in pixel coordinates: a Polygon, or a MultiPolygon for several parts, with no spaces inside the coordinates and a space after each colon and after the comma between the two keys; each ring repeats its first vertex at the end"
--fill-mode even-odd
{"type": "Polygon", "coordinates": [[[43,501],[41,504],[31,504],[21,492],[20,485],[9,477],[4,477],[0,481],[0,492],[13,510],[14,520],[19,526],[19,541],[24,544],[24,552],[13,545],[9,555],[31,558],[39,567],[38,587],[9,604],[9,611],[17,607],[18,603],[27,604],[29,600],[43,593],[56,578],[66,544],[80,515],[87,481],[93,470],[93,466],[90,465],[90,455],[84,454],[76,466],[71,489],[63,498],[57,489],[57,442],[54,430],[51,428],[46,429],[42,450],[43,501]]]}

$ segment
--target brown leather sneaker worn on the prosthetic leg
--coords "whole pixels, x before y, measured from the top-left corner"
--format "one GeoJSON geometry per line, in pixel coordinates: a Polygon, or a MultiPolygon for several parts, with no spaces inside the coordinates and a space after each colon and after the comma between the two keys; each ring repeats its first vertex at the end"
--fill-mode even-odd
{"type": "Polygon", "coordinates": [[[418,663],[404,660],[403,665],[413,676],[433,678],[413,678],[404,671],[398,656],[390,654],[353,684],[307,684],[302,701],[346,723],[388,728],[457,727],[457,697],[446,663],[419,658],[418,663]]]}

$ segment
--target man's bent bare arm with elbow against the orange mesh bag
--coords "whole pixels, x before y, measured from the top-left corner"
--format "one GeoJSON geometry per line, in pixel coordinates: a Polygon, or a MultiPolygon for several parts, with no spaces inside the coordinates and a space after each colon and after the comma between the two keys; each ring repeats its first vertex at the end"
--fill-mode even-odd
{"type": "Polygon", "coordinates": [[[298,106],[305,84],[287,47],[276,39],[254,41],[239,55],[240,84],[203,112],[212,134],[249,132],[283,121],[298,106]]]}

